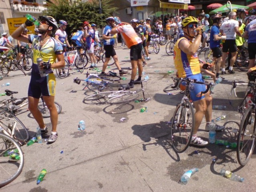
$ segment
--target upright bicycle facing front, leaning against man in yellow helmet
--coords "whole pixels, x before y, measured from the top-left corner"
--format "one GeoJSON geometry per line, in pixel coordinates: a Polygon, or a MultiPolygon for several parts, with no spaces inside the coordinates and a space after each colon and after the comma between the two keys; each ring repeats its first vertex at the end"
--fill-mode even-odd
{"type": "Polygon", "coordinates": [[[184,96],[181,102],[177,105],[173,117],[171,118],[171,142],[173,150],[177,153],[184,152],[190,144],[192,132],[195,126],[194,108],[190,102],[190,89],[194,83],[204,84],[207,86],[205,94],[211,89],[212,83],[206,84],[196,80],[180,78],[172,88],[179,87],[179,84],[184,81],[186,83],[184,96]]]}

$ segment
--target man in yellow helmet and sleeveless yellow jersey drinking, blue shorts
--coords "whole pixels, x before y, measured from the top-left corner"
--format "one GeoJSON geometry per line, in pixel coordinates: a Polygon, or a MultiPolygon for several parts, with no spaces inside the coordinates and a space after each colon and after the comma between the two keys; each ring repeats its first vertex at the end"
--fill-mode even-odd
{"type": "MultiPolygon", "coordinates": [[[[182,20],[182,29],[184,36],[177,40],[174,46],[174,64],[177,69],[178,77],[196,79],[197,81],[204,82],[201,74],[201,68],[203,65],[200,64],[198,56],[196,54],[202,37],[202,31],[198,27],[198,21],[196,18],[189,16],[182,20]],[[196,30],[196,32],[195,32],[196,30]],[[194,42],[193,38],[196,37],[194,42]]],[[[213,77],[215,75],[208,72],[213,77]]],[[[196,146],[205,146],[208,144],[207,141],[197,136],[198,128],[203,120],[204,115],[206,116],[206,130],[215,129],[221,131],[224,126],[218,126],[212,121],[212,96],[210,91],[202,95],[201,92],[206,90],[206,86],[202,84],[193,84],[193,90],[190,91],[191,99],[196,108],[195,112],[195,126],[193,130],[193,136],[191,144],[196,146]]]]}

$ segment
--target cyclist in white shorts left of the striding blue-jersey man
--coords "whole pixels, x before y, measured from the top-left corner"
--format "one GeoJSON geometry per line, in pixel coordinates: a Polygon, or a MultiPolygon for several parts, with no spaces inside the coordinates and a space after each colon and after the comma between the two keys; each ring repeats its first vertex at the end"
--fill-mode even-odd
{"type": "Polygon", "coordinates": [[[86,39],[87,52],[91,60],[91,66],[89,68],[93,69],[97,67],[97,60],[94,55],[95,31],[87,21],[84,22],[84,28],[85,28],[84,37],[86,39]]]}

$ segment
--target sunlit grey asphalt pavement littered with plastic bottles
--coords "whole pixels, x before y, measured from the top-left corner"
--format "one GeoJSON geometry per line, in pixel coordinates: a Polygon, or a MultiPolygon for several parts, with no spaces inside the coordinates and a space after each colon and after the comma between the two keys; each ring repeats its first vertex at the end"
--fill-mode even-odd
{"type": "MultiPolygon", "coordinates": [[[[119,62],[124,70],[129,70],[129,49],[116,48],[119,62]]],[[[151,60],[143,67],[149,76],[145,84],[148,102],[130,102],[109,105],[100,102],[85,102],[89,94],[85,85],[73,83],[73,78],[85,79],[85,73],[74,71],[65,79],[57,78],[55,101],[62,106],[58,116],[58,139],[53,144],[34,143],[22,146],[25,164],[16,180],[1,189],[2,192],[219,192],[252,191],[256,184],[255,151],[248,164],[240,166],[236,150],[208,144],[204,148],[189,146],[181,154],[174,152],[171,146],[169,124],[176,104],[182,94],[168,95],[163,92],[165,86],[172,83],[167,72],[175,70],[173,56],[168,56],[165,46],[160,46],[159,54],[150,54],[151,60]],[[147,106],[147,111],[140,109],[147,106]],[[121,121],[122,118],[125,120],[121,121]],[[85,131],[78,130],[80,120],[85,121],[85,131]],[[60,153],[63,151],[63,153],[60,153]],[[216,162],[212,159],[215,158],[216,162]],[[36,184],[36,177],[42,169],[47,170],[44,180],[36,184]],[[198,168],[186,185],[179,184],[181,175],[198,168]],[[222,177],[219,172],[224,168],[244,177],[244,182],[234,182],[222,177]]],[[[88,65],[89,66],[89,65],[88,65]]],[[[102,66],[99,63],[98,66],[102,66]]],[[[232,80],[247,82],[246,72],[234,68],[235,74],[226,74],[216,85],[212,97],[214,105],[224,105],[226,110],[213,110],[213,119],[226,115],[226,119],[217,124],[235,126],[231,121],[240,123],[237,106],[242,101],[246,86],[236,88],[238,97],[230,95],[232,80]]],[[[107,70],[117,71],[115,66],[107,70]]],[[[129,70],[131,73],[131,71],[129,70]]],[[[125,84],[130,73],[121,80],[125,84]]],[[[145,77],[143,75],[143,78],[145,77]]],[[[21,72],[10,72],[0,84],[10,82],[5,88],[18,91],[17,97],[27,96],[30,72],[27,76],[21,72]]],[[[208,81],[212,81],[209,79],[208,81]]],[[[138,88],[139,85],[135,85],[138,88]]],[[[7,98],[7,96],[1,97],[7,98]]],[[[140,95],[142,98],[142,95],[140,95]]],[[[37,124],[29,111],[19,114],[32,136],[37,124]]],[[[50,119],[44,119],[51,128],[50,119]]],[[[205,118],[198,135],[208,139],[205,131],[205,118]]],[[[236,125],[238,126],[238,125],[236,125]]],[[[49,134],[49,133],[48,133],[49,134]]],[[[48,135],[49,136],[49,135],[48,135]]],[[[47,138],[47,137],[46,137],[47,138]]],[[[227,131],[217,133],[218,139],[236,141],[234,134],[227,131]]]]}

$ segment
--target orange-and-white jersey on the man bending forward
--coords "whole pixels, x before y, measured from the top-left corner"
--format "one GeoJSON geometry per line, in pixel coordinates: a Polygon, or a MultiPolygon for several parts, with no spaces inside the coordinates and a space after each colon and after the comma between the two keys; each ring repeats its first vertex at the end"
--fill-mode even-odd
{"type": "Polygon", "coordinates": [[[142,42],[131,25],[122,25],[117,28],[117,32],[121,33],[123,40],[128,48],[142,42]]]}

